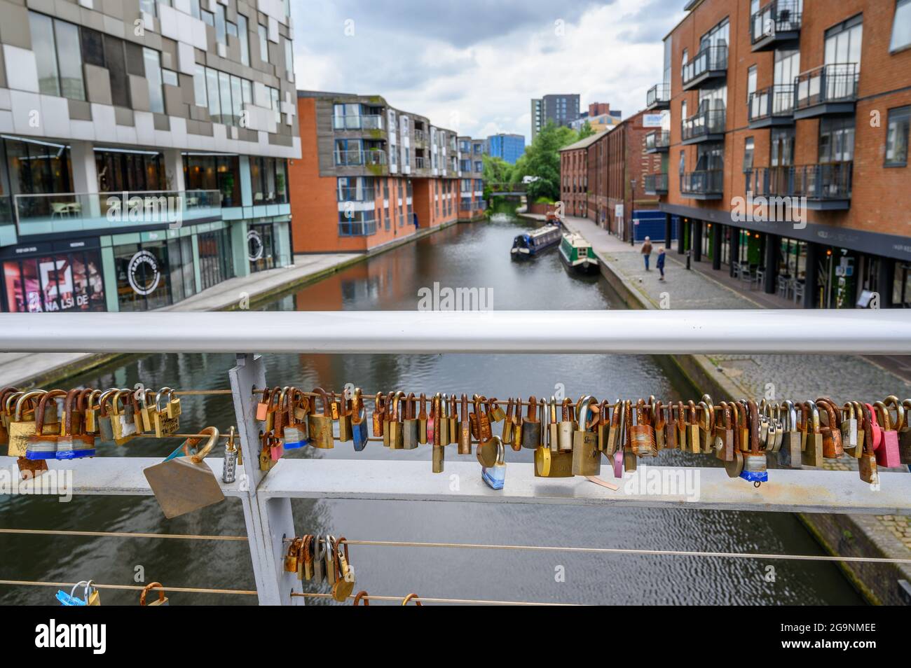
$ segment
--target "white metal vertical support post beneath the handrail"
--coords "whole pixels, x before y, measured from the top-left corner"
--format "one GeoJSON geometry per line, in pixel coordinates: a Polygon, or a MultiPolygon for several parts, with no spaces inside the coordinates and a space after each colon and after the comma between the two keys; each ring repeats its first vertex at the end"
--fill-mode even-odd
{"type": "MultiPolygon", "coordinates": [[[[266,372],[259,355],[238,354],[237,365],[230,369],[230,387],[234,415],[241,438],[243,466],[238,467],[238,484],[246,491],[243,501],[244,521],[250,541],[250,556],[256,590],[261,605],[302,605],[301,582],[294,573],[284,572],[284,538],[294,537],[294,519],[290,499],[266,499],[257,490],[268,473],[260,471],[260,426],[256,421],[258,397],[254,389],[266,387],[266,372]]],[[[281,465],[281,463],[279,464],[281,465]]]]}

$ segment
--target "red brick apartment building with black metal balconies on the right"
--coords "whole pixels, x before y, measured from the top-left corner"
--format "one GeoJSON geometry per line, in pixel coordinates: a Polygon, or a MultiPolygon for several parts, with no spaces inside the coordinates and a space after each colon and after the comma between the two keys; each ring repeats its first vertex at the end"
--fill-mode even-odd
{"type": "Polygon", "coordinates": [[[646,99],[679,251],[805,308],[911,306],[911,0],[685,9],[646,99]]]}

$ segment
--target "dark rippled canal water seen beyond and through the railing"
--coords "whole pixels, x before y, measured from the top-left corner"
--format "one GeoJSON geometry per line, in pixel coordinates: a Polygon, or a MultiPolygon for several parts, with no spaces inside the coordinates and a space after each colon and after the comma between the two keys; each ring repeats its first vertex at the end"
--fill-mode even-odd
{"type": "MultiPolygon", "coordinates": [[[[556,249],[514,263],[512,238],[530,224],[501,211],[488,222],[458,225],[371,258],[275,299],[266,309],[415,309],[420,288],[491,288],[495,309],[621,308],[601,278],[576,278],[556,249]]],[[[319,328],[318,320],[305,327],[319,328]]],[[[566,327],[572,328],[566,320],[566,327]]],[[[67,382],[67,386],[228,389],[230,355],[124,358],[67,382]]],[[[488,397],[551,395],[635,399],[655,394],[676,400],[698,396],[668,360],[618,355],[271,355],[272,385],[341,390],[351,382],[365,392],[403,389],[473,392],[488,397]]],[[[185,398],[181,431],[234,421],[230,398],[185,398]]],[[[160,456],[171,441],[133,440],[99,446],[100,456],[160,456]]],[[[455,447],[446,456],[455,458],[455,447]]],[[[334,450],[295,450],[292,457],[399,459],[426,462],[430,450],[384,449],[362,453],[350,444],[334,450]]],[[[660,463],[689,462],[675,451],[660,463]]],[[[689,459],[688,459],[689,458],[689,459]]],[[[472,457],[472,460],[474,458],[472,457]]],[[[507,450],[507,461],[532,461],[532,450],[507,450]]],[[[701,458],[703,465],[713,461],[701,458]]],[[[610,480],[608,468],[603,469],[610,480]]],[[[478,467],[480,475],[480,467],[478,467]]],[[[352,486],[357,485],[352,480],[352,486]]],[[[509,471],[507,466],[507,485],[509,471]]],[[[734,482],[732,482],[734,484],[734,482]]],[[[747,484],[743,482],[742,484],[747,484]]],[[[608,492],[609,493],[609,492],[608,492]]],[[[333,533],[374,541],[446,541],[568,547],[710,552],[821,554],[795,516],[787,513],[688,511],[492,503],[404,501],[292,501],[299,533],[333,533]]],[[[152,498],[0,497],[0,527],[69,531],[245,533],[240,501],[168,521],[152,498]]],[[[450,548],[353,546],[355,591],[532,602],[650,604],[850,604],[862,602],[829,563],[708,557],[605,555],[450,548]]],[[[190,541],[111,537],[0,534],[0,579],[254,589],[250,554],[241,541],[190,541]]],[[[328,591],[305,583],[305,591],[328,591]]],[[[0,585],[0,604],[54,602],[54,588],[0,585]]],[[[103,603],[138,602],[134,592],[105,591],[103,603]]],[[[255,597],[174,593],[175,605],[254,603],[255,597]]],[[[318,603],[320,601],[317,601],[318,603]]]]}

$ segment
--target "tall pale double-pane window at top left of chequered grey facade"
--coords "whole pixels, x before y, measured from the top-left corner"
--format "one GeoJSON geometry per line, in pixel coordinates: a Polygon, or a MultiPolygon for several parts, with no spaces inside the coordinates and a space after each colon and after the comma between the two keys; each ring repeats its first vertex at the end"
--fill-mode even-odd
{"type": "Polygon", "coordinates": [[[86,99],[82,79],[82,46],[79,28],[50,16],[28,13],[38,73],[38,90],[44,95],[86,99]]]}

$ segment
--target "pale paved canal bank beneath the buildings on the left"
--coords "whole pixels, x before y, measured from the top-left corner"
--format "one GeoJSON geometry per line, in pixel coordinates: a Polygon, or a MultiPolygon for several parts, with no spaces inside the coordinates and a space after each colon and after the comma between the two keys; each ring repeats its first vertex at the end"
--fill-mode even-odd
{"type": "MultiPolygon", "coordinates": [[[[295,255],[294,264],[289,267],[266,269],[248,276],[230,278],[177,304],[153,312],[258,309],[282,292],[316,282],[344,268],[455,224],[457,221],[435,228],[417,229],[413,234],[396,238],[364,253],[295,255]]],[[[0,387],[30,388],[52,385],[59,380],[107,364],[118,357],[124,356],[105,353],[33,355],[3,352],[0,353],[0,387]]]]}

